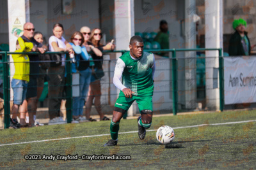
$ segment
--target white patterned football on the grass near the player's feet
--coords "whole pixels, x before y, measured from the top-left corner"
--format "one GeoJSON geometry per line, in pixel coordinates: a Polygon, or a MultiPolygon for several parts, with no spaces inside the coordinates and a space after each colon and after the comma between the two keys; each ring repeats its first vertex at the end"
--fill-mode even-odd
{"type": "Polygon", "coordinates": [[[162,125],[161,127],[159,127],[159,129],[157,129],[157,132],[156,132],[157,141],[163,144],[168,144],[172,142],[174,139],[174,136],[175,134],[172,127],[168,125],[162,125]]]}

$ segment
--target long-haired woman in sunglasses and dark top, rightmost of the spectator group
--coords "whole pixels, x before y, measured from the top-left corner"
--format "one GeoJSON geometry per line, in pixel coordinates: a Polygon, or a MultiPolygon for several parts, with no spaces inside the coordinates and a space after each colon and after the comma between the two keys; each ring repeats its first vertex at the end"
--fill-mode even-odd
{"type": "MultiPolygon", "coordinates": [[[[100,44],[100,39],[102,38],[102,34],[100,29],[96,28],[92,30],[92,34],[90,36],[90,41],[95,48],[98,48],[100,52],[103,50],[113,50],[114,46],[111,45],[111,43],[108,43],[108,45],[103,46],[100,44]]],[[[92,52],[92,59],[95,60],[95,66],[92,66],[92,73],[97,73],[97,71],[102,70],[102,61],[103,57],[102,55],[96,55],[94,51],[92,52]]],[[[88,100],[86,101],[86,109],[85,109],[85,116],[87,120],[90,121],[96,121],[95,119],[90,118],[90,111],[92,109],[92,102],[94,100],[94,106],[95,109],[97,110],[98,114],[100,115],[100,120],[109,120],[109,118],[104,116],[104,113],[102,113],[102,108],[100,104],[100,96],[101,96],[101,91],[100,91],[100,76],[97,74],[92,74],[91,78],[91,83],[90,83],[90,89],[89,89],[89,94],[88,94],[88,100]]]]}

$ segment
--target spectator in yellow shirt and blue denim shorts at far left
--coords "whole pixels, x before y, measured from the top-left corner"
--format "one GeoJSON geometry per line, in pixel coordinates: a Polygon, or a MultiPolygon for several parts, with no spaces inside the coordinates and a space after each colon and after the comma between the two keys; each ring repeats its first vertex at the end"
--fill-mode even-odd
{"type": "MultiPolygon", "coordinates": [[[[30,52],[33,48],[33,43],[24,43],[24,40],[14,32],[18,38],[16,43],[15,52],[30,52]]],[[[26,125],[25,117],[20,115],[20,124],[17,121],[17,115],[19,113],[19,106],[25,101],[26,92],[29,82],[29,57],[24,54],[12,55],[15,73],[12,79],[13,89],[13,105],[12,105],[12,118],[10,121],[10,127],[15,129],[20,128],[21,125],[26,125]]],[[[23,115],[24,116],[24,115],[23,115]]]]}

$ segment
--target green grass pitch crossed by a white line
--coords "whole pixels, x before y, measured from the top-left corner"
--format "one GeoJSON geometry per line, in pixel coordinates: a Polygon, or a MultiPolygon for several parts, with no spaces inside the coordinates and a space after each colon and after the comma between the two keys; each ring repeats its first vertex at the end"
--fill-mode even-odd
{"type": "MultiPolygon", "coordinates": [[[[173,128],[256,120],[256,111],[228,111],[175,117],[154,117],[150,129],[161,125],[173,128]]],[[[0,145],[109,134],[109,121],[82,124],[45,125],[0,131],[0,145]]],[[[119,132],[138,131],[136,120],[122,120],[119,132]]],[[[0,146],[0,168],[6,169],[250,169],[256,167],[255,122],[206,125],[174,129],[175,140],[169,145],[157,142],[156,131],[144,140],[138,133],[119,134],[118,145],[103,147],[110,136],[65,139],[0,146]],[[25,160],[24,155],[131,155],[131,160],[25,160]]]]}

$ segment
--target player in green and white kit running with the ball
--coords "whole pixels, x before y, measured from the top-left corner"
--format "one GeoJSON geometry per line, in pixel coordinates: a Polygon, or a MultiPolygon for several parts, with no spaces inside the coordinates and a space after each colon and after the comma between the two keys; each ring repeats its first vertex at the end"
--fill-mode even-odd
{"type": "Polygon", "coordinates": [[[137,119],[140,139],[145,138],[146,129],[151,125],[156,63],[154,54],[143,52],[143,47],[143,39],[140,36],[132,36],[129,45],[130,52],[125,53],[116,61],[113,83],[121,91],[116,100],[110,124],[111,139],[104,146],[117,145],[120,120],[134,101],[138,103],[141,113],[137,119]],[[124,84],[120,81],[121,76],[123,76],[124,84]]]}

